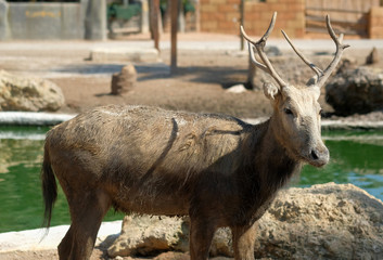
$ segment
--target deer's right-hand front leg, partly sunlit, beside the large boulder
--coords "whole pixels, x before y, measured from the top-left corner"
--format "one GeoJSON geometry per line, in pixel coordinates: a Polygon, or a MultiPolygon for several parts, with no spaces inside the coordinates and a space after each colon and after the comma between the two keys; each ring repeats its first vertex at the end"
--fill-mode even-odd
{"type": "Polygon", "coordinates": [[[254,260],[256,224],[231,227],[235,260],[254,260]]]}

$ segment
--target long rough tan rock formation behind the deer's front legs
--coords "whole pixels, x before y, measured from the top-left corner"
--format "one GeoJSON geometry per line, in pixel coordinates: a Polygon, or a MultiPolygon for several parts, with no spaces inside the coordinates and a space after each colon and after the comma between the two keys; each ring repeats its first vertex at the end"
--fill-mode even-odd
{"type": "MultiPolygon", "coordinates": [[[[383,257],[383,203],[352,184],[283,190],[257,225],[256,258],[383,257]]],[[[108,253],[187,251],[188,234],[187,218],[126,217],[108,253]]],[[[229,229],[218,230],[210,255],[233,256],[229,229]]]]}

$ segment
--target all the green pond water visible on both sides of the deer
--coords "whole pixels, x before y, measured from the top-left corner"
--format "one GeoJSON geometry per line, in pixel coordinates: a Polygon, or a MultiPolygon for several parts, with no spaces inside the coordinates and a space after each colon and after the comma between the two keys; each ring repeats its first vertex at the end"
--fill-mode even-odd
{"type": "MultiPolygon", "coordinates": [[[[0,233],[37,229],[42,223],[40,165],[48,128],[0,128],[0,233]]],[[[353,183],[383,200],[383,131],[323,132],[331,161],[322,169],[305,166],[295,186],[353,183]]],[[[104,220],[123,219],[111,210],[104,220]]],[[[68,224],[62,191],[52,225],[68,224]]]]}

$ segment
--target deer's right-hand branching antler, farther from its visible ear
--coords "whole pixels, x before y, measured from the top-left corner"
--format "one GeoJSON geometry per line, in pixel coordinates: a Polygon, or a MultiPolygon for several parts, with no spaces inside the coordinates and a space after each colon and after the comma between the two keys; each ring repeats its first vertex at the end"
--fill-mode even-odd
{"type": "Polygon", "coordinates": [[[314,63],[311,63],[309,60],[307,60],[302,54],[302,52],[295,48],[293,42],[290,40],[289,36],[282,30],[284,38],[286,39],[289,44],[293,48],[295,53],[302,58],[302,61],[304,61],[304,63],[306,63],[317,74],[318,80],[312,86],[318,87],[318,88],[321,88],[324,84],[325,80],[330,77],[331,73],[335,69],[337,63],[341,61],[343,50],[349,47],[349,44],[342,44],[343,34],[341,34],[339,38],[336,37],[334,30],[331,27],[329,15],[325,15],[325,24],[327,24],[329,35],[331,36],[331,39],[335,42],[336,52],[335,52],[334,58],[332,60],[332,62],[329,64],[329,66],[324,70],[320,69],[314,63]]]}

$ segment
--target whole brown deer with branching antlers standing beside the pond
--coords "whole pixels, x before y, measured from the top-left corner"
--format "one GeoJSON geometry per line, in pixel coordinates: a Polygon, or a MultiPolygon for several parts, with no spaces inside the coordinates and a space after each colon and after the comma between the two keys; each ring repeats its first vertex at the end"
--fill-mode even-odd
{"type": "Polygon", "coordinates": [[[273,114],[263,123],[253,126],[224,115],[110,105],[82,113],[47,133],[41,173],[46,224],[50,224],[58,195],[55,179],[72,217],[59,245],[60,259],[90,258],[111,207],[124,212],[189,214],[192,260],[208,258],[213,235],[220,226],[232,230],[235,259],[254,259],[254,223],[277,191],[303,164],[321,167],[329,161],[318,98],[347,47],[327,17],[336,44],[334,60],[321,70],[291,43],[317,79],[307,87],[290,86],[264,52],[275,22],[276,14],[259,41],[251,40],[241,28],[253,62],[278,83],[264,87],[273,114]],[[253,46],[264,64],[255,60],[253,46]]]}

